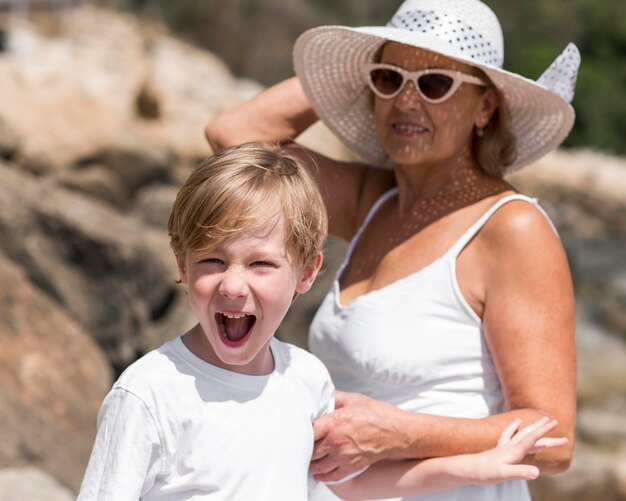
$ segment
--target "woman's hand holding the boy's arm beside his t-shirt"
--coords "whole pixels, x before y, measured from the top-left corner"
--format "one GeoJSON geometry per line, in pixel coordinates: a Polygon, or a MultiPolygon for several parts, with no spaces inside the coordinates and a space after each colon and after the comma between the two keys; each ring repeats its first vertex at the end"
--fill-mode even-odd
{"type": "Polygon", "coordinates": [[[315,447],[310,472],[322,482],[341,480],[389,457],[404,434],[394,426],[399,411],[358,393],[338,391],[335,411],[313,423],[315,447]]]}

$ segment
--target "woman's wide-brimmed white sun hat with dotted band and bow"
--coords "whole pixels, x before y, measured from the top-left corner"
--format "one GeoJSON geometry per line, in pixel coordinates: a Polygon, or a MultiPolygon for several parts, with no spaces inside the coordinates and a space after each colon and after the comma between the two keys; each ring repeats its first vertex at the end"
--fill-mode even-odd
{"type": "Polygon", "coordinates": [[[569,44],[535,82],[502,69],[502,29],[479,0],[406,0],[387,26],[322,26],[294,46],[294,67],[318,117],[366,162],[390,168],[374,125],[363,67],[386,41],[438,52],[480,68],[503,97],[517,157],[506,173],[557,148],[574,124],[580,53],[569,44]]]}

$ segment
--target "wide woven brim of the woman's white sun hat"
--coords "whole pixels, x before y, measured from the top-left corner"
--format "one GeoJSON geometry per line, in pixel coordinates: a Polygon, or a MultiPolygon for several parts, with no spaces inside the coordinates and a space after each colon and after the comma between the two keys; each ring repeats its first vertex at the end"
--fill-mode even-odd
{"type": "Polygon", "coordinates": [[[390,27],[323,26],[296,41],[294,68],[313,109],[351,150],[373,166],[391,168],[378,140],[372,94],[363,66],[387,41],[441,53],[480,68],[499,90],[517,140],[513,172],[556,149],[574,124],[572,106],[541,84],[501,68],[481,64],[445,40],[390,27]]]}

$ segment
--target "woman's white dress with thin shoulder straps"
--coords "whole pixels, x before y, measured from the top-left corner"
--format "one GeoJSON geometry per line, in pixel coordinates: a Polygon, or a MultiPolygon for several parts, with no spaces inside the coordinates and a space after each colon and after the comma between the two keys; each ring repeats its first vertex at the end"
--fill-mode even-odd
{"type": "MultiPolygon", "coordinates": [[[[536,206],[536,201],[523,195],[502,198],[434,262],[342,305],[338,279],[363,228],[396,193],[394,188],[378,200],[351,242],[311,325],[311,351],[326,364],[339,390],[441,416],[481,418],[502,412],[502,388],[481,321],[459,290],[456,258],[502,205],[524,200],[536,206]]],[[[337,498],[326,491],[311,499],[337,498]]],[[[523,501],[530,497],[526,482],[512,481],[404,499],[523,501]]]]}

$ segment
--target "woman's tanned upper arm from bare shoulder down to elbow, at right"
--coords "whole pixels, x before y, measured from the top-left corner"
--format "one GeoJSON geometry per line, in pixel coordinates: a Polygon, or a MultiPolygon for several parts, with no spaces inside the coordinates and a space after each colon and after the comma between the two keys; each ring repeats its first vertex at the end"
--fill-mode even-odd
{"type": "MultiPolygon", "coordinates": [[[[485,226],[473,249],[485,254],[482,312],[485,338],[506,408],[559,421],[569,445],[534,460],[543,472],[569,467],[576,421],[574,292],[567,257],[544,215],[511,202],[485,226]],[[489,249],[489,251],[488,251],[489,249]]],[[[462,256],[461,256],[462,257],[462,256]]]]}

